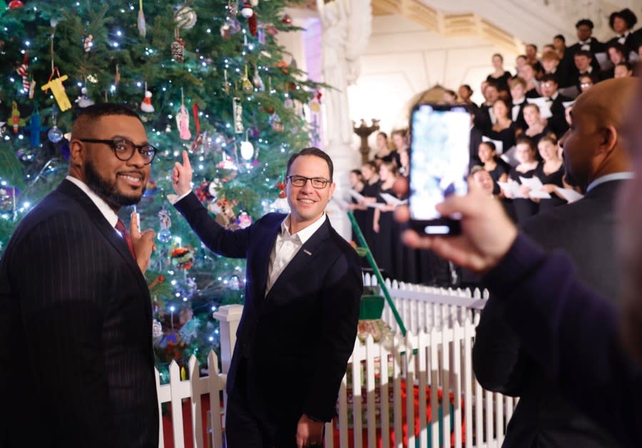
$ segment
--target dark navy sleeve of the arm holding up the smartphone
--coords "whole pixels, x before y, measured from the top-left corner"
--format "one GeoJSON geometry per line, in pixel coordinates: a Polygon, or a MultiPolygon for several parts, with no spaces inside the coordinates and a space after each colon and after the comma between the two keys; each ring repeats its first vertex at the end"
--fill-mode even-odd
{"type": "Polygon", "coordinates": [[[561,394],[623,446],[642,446],[642,369],[623,350],[616,305],[579,282],[566,255],[546,254],[524,235],[483,281],[561,394]]]}

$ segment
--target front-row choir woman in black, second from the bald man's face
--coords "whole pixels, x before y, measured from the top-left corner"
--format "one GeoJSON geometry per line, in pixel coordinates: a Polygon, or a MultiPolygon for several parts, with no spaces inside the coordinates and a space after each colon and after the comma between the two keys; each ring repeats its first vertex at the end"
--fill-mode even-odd
{"type": "MultiPolygon", "coordinates": [[[[530,138],[519,138],[517,140],[515,157],[519,165],[511,169],[509,178],[521,185],[521,178],[531,178],[535,175],[535,170],[539,162],[535,158],[535,146],[530,138]]],[[[528,218],[537,213],[538,204],[530,199],[529,190],[526,185],[521,185],[521,197],[515,197],[511,193],[504,192],[506,198],[513,200],[513,207],[517,218],[517,224],[524,223],[528,218]]]]}

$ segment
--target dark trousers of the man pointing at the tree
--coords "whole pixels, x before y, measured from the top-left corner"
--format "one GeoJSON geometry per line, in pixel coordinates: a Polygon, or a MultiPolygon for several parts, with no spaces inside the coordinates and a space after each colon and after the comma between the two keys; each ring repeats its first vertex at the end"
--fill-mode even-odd
{"type": "Polygon", "coordinates": [[[296,448],[300,416],[280,412],[280,403],[265,403],[258,392],[248,380],[248,360],[243,358],[228,396],[225,414],[228,448],[296,448]]]}

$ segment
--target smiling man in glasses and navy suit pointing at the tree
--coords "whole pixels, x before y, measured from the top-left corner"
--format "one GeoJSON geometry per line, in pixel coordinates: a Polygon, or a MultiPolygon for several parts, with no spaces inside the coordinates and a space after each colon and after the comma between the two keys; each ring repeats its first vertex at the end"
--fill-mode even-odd
{"type": "Polygon", "coordinates": [[[228,372],[228,447],[320,446],[355,346],[363,290],[357,253],[325,215],[332,160],[317,148],[295,153],[285,178],[290,213],[235,231],[208,215],[191,180],[183,151],[172,172],[175,207],[208,248],[248,260],[228,372]]]}

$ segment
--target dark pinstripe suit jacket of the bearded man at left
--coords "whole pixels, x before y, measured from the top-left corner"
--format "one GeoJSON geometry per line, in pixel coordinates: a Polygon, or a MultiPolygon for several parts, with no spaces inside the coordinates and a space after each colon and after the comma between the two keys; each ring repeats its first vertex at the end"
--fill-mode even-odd
{"type": "Polygon", "coordinates": [[[151,320],[125,241],[63,180],[0,260],[0,446],[158,447],[151,320]]]}

